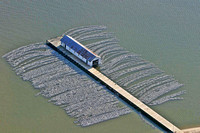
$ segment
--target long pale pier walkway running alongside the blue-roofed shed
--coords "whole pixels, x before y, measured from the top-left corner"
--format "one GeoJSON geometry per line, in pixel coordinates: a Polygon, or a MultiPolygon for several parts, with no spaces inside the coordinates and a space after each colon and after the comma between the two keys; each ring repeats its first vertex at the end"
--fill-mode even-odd
{"type": "MultiPolygon", "coordinates": [[[[150,107],[142,103],[140,100],[138,100],[136,97],[131,95],[129,92],[121,88],[119,85],[117,85],[115,82],[107,78],[105,75],[103,75],[101,72],[99,72],[97,69],[90,67],[86,65],[84,62],[82,62],[80,59],[75,57],[73,54],[69,53],[68,51],[64,50],[60,46],[60,38],[57,37],[54,39],[47,40],[47,45],[58,51],[60,54],[62,54],[67,59],[71,60],[73,63],[78,65],[80,68],[84,69],[88,74],[93,76],[94,78],[100,80],[103,84],[105,84],[111,91],[117,93],[117,95],[124,99],[126,102],[128,102],[130,105],[134,106],[137,110],[139,110],[142,114],[150,118],[153,122],[155,122],[157,125],[159,125],[161,128],[168,132],[173,133],[190,133],[192,130],[181,130],[175,125],[173,125],[171,122],[166,120],[164,117],[159,115],[157,112],[152,110],[150,107]]],[[[196,128],[195,128],[196,129],[196,128]]],[[[199,129],[199,128],[198,128],[199,129]]],[[[200,130],[200,129],[199,129],[200,130]]],[[[198,131],[199,131],[198,130],[198,131]]],[[[193,130],[194,131],[194,130],[193,130]]],[[[197,132],[198,132],[197,131],[197,132]]],[[[197,133],[194,132],[194,133],[197,133]]]]}

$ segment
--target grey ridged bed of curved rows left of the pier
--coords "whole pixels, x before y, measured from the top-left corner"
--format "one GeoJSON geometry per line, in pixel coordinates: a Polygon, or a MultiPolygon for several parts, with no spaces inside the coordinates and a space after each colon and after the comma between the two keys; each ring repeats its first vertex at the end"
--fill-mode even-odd
{"type": "Polygon", "coordinates": [[[105,86],[44,43],[31,44],[3,56],[16,74],[39,89],[37,95],[61,106],[76,118],[75,123],[90,126],[131,112],[105,86]]]}

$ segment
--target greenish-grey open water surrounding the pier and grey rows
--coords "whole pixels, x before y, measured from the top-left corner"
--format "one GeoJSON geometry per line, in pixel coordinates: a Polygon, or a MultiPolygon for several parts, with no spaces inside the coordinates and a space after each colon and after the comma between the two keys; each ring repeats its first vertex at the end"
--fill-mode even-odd
{"type": "MultiPolygon", "coordinates": [[[[180,128],[200,125],[200,2],[187,0],[1,0],[0,56],[83,25],[105,25],[120,45],[174,77],[184,100],[152,107],[180,128]]],[[[81,128],[47,99],[35,97],[0,58],[0,132],[160,132],[131,113],[81,128]]]]}

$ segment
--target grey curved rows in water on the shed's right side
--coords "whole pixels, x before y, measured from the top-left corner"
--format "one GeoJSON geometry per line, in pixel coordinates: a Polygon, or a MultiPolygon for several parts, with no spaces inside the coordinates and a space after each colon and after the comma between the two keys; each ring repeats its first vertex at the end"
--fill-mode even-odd
{"type": "MultiPolygon", "coordinates": [[[[102,26],[103,30],[105,30],[104,26],[102,26]]],[[[82,34],[78,30],[73,33],[75,33],[72,36],[74,38],[82,34]]],[[[105,32],[103,34],[105,35],[105,32]]],[[[101,34],[96,33],[92,40],[99,39],[97,35],[101,34]]],[[[179,96],[185,91],[178,91],[183,84],[180,84],[172,76],[165,75],[164,71],[142,59],[140,55],[122,48],[118,45],[119,41],[111,35],[109,33],[107,36],[105,35],[104,40],[90,44],[85,44],[82,39],[78,40],[101,56],[103,63],[100,65],[100,71],[104,75],[147,105],[158,105],[167,101],[183,99],[179,96]]],[[[88,41],[89,35],[87,34],[84,38],[88,41]]]]}

